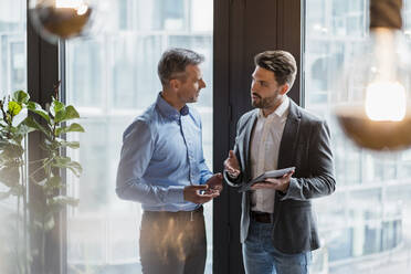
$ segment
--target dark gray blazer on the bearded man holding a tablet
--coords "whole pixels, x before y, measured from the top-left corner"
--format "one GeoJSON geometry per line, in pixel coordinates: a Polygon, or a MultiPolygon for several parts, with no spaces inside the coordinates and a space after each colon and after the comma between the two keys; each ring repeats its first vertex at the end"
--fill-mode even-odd
{"type": "MultiPolygon", "coordinates": [[[[295,254],[319,247],[317,226],[312,211],[312,198],[335,191],[333,152],[329,129],[325,120],[307,113],[293,101],[278,150],[278,169],[295,167],[286,193],[276,191],[274,200],[272,239],[274,247],[295,254]]],[[[244,114],[236,127],[234,152],[241,175],[225,181],[240,187],[251,179],[250,139],[259,109],[244,114]]],[[[243,192],[241,242],[247,236],[250,225],[250,191],[243,192]]]]}

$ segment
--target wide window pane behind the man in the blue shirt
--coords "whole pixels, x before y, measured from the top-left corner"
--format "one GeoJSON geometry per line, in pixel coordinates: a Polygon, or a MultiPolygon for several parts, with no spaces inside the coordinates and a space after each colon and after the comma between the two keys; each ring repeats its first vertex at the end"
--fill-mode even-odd
{"type": "MultiPolygon", "coordinates": [[[[151,105],[161,85],[157,63],[169,46],[205,55],[208,85],[192,105],[202,117],[203,149],[212,167],[211,0],[113,0],[104,32],[66,46],[67,103],[84,117],[86,133],[72,136],[81,148],[72,157],[84,172],[70,177],[80,205],[68,213],[68,273],[139,273],[139,203],[115,194],[122,135],[151,105]]],[[[212,204],[205,205],[207,273],[212,272],[212,204]]]]}

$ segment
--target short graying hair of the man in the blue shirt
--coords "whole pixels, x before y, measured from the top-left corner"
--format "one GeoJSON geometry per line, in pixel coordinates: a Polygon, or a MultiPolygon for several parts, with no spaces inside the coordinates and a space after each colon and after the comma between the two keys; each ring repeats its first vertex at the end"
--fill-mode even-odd
{"type": "Polygon", "coordinates": [[[167,86],[173,77],[185,77],[186,66],[198,65],[204,61],[204,56],[186,49],[172,48],[162,53],[158,62],[157,73],[164,86],[167,86]],[[176,75],[181,74],[181,75],[176,75]]]}

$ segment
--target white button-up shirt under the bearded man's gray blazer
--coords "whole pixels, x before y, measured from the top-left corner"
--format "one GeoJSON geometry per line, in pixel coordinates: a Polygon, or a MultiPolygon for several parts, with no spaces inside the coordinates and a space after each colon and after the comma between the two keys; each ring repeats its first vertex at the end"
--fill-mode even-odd
{"type": "MultiPolygon", "coordinates": [[[[283,103],[267,117],[264,117],[262,109],[260,109],[251,139],[252,178],[265,171],[277,169],[280,143],[283,137],[288,108],[289,98],[284,96],[283,103]]],[[[251,194],[251,210],[273,213],[274,196],[274,189],[254,190],[251,194]]]]}

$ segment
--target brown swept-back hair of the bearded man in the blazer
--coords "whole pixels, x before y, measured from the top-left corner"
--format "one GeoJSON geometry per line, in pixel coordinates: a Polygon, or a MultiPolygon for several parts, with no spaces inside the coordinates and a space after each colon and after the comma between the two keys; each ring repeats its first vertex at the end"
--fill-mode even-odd
{"type": "Polygon", "coordinates": [[[265,51],[254,56],[254,64],[274,73],[280,85],[287,83],[293,86],[297,74],[294,56],[286,51],[265,51]]]}

